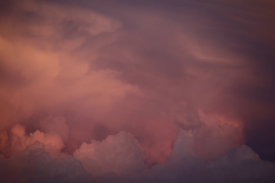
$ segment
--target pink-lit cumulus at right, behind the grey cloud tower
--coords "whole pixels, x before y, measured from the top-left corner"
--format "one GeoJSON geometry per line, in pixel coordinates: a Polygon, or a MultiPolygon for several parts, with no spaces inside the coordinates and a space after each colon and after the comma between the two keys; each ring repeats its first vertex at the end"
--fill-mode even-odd
{"type": "Polygon", "coordinates": [[[206,114],[202,109],[194,109],[185,102],[175,105],[175,122],[181,129],[196,130],[194,152],[207,158],[221,156],[225,150],[242,144],[242,127],[221,121],[214,115],[206,114]]]}

